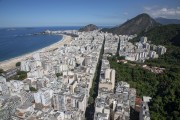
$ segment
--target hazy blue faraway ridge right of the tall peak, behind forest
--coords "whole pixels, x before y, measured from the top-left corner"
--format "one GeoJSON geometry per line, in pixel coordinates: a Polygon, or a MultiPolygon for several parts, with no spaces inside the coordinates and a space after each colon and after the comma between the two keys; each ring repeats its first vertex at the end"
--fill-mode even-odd
{"type": "Polygon", "coordinates": [[[167,19],[167,18],[155,18],[156,22],[159,22],[163,25],[168,25],[168,24],[180,24],[180,20],[178,19],[167,19]]]}

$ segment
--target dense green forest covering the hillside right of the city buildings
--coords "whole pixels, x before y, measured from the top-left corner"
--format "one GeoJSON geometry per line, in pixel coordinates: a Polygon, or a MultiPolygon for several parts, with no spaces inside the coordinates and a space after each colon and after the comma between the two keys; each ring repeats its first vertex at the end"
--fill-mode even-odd
{"type": "Polygon", "coordinates": [[[137,89],[137,94],[151,96],[149,105],[152,120],[180,119],[180,25],[166,25],[141,33],[132,41],[147,36],[151,43],[165,45],[167,53],[145,64],[164,67],[162,74],[150,73],[140,67],[117,64],[110,58],[111,67],[117,71],[118,80],[125,80],[137,89]]]}

